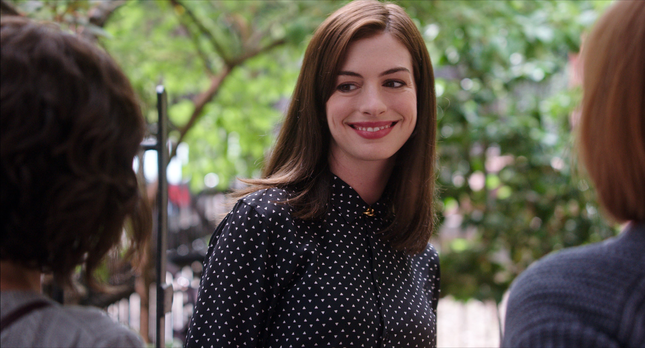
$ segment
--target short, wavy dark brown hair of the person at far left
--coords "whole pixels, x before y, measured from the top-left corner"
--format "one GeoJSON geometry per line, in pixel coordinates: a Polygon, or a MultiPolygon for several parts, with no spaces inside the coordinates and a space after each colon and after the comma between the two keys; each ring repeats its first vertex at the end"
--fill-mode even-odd
{"type": "Polygon", "coordinates": [[[151,216],[132,160],[145,122],[130,82],[103,50],[55,24],[0,19],[0,257],[63,286],[93,273],[132,224],[143,252],[151,216]]]}

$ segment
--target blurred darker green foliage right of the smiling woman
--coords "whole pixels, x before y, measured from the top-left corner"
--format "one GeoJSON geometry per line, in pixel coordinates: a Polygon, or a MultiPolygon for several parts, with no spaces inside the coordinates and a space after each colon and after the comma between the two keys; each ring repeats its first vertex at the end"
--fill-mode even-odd
{"type": "Polygon", "coordinates": [[[530,262],[613,235],[576,170],[567,75],[608,1],[400,3],[437,77],[444,294],[499,301],[530,262]]]}

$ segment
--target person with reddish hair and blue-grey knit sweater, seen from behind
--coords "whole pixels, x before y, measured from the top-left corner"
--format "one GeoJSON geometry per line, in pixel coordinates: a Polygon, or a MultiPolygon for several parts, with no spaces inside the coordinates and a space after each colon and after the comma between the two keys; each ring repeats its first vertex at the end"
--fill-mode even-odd
{"type": "Polygon", "coordinates": [[[617,1],[582,49],[578,144],[617,237],[544,257],[511,286],[503,347],[645,347],[645,1],[617,1]]]}

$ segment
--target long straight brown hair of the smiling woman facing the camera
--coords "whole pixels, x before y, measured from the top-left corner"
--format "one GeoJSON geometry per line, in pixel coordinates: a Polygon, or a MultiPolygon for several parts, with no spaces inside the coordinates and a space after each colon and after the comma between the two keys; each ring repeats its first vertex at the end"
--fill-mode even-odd
{"type": "Polygon", "coordinates": [[[330,131],[325,105],[335,87],[346,50],[353,41],[387,32],[412,55],[417,86],[417,125],[397,152],[388,181],[393,222],[381,237],[396,250],[420,253],[433,230],[436,102],[430,55],[421,33],[398,5],[353,1],[328,17],[315,31],[304,53],[303,66],[290,107],[263,178],[248,179],[243,196],[268,187],[295,188],[288,203],[297,217],[323,217],[330,199],[328,149],[330,131]]]}

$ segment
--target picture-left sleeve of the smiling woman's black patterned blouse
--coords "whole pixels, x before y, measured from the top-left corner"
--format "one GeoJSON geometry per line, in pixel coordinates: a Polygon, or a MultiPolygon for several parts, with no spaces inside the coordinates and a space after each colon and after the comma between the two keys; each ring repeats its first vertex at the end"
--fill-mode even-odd
{"type": "Polygon", "coordinates": [[[237,202],[210,241],[186,347],[262,345],[275,288],[270,248],[263,217],[237,202]]]}

